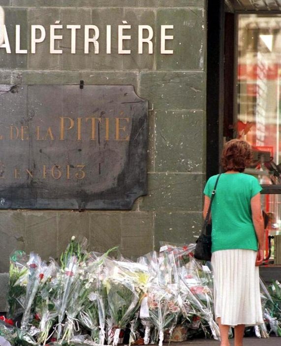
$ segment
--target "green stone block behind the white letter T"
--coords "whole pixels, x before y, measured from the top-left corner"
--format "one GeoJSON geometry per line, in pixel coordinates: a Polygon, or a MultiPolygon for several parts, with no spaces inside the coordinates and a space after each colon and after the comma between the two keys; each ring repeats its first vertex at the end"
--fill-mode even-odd
{"type": "Polygon", "coordinates": [[[81,25],[76,30],[76,53],[71,54],[71,30],[64,25],[62,30],[62,69],[84,70],[91,69],[93,52],[84,54],[84,25],[92,24],[91,8],[62,8],[62,23],[81,25]]]}

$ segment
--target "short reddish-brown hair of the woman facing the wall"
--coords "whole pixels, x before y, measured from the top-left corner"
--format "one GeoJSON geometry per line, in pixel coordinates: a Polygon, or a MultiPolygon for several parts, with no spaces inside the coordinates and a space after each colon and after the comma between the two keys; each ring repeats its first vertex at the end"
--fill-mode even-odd
{"type": "Polygon", "coordinates": [[[233,170],[244,172],[252,159],[250,144],[241,139],[225,143],[221,154],[221,166],[225,172],[233,170]]]}

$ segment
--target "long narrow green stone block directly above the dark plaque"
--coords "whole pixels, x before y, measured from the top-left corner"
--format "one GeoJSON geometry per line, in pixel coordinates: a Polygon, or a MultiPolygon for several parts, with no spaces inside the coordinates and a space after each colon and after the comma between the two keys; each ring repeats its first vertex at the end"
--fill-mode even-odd
{"type": "Polygon", "coordinates": [[[13,71],[12,83],[22,84],[73,84],[84,80],[87,85],[138,85],[138,73],[126,71],[13,71]]]}

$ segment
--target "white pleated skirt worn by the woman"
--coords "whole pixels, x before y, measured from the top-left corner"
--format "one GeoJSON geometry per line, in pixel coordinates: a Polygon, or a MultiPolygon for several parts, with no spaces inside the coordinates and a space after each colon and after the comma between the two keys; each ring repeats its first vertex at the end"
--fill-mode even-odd
{"type": "Polygon", "coordinates": [[[214,309],[222,324],[262,324],[259,270],[252,250],[220,250],[212,253],[214,309]]]}

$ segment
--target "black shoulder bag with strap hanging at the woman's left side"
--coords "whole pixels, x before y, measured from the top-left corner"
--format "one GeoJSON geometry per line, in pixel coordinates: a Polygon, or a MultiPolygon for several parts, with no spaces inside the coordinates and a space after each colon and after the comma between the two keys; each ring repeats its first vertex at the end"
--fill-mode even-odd
{"type": "Polygon", "coordinates": [[[211,260],[211,256],[212,256],[212,252],[211,252],[211,248],[212,248],[212,225],[208,225],[208,221],[210,219],[210,214],[211,214],[211,207],[212,207],[212,202],[213,199],[215,197],[216,194],[216,189],[217,189],[217,185],[218,185],[218,181],[219,181],[219,177],[221,174],[219,174],[217,180],[216,180],[216,184],[215,187],[212,191],[212,196],[211,196],[211,200],[210,200],[210,205],[209,205],[209,209],[206,215],[206,219],[204,220],[203,226],[202,226],[202,231],[201,234],[199,235],[198,239],[196,240],[196,247],[195,247],[195,251],[194,251],[194,257],[196,259],[201,259],[204,261],[210,261],[211,260]]]}

